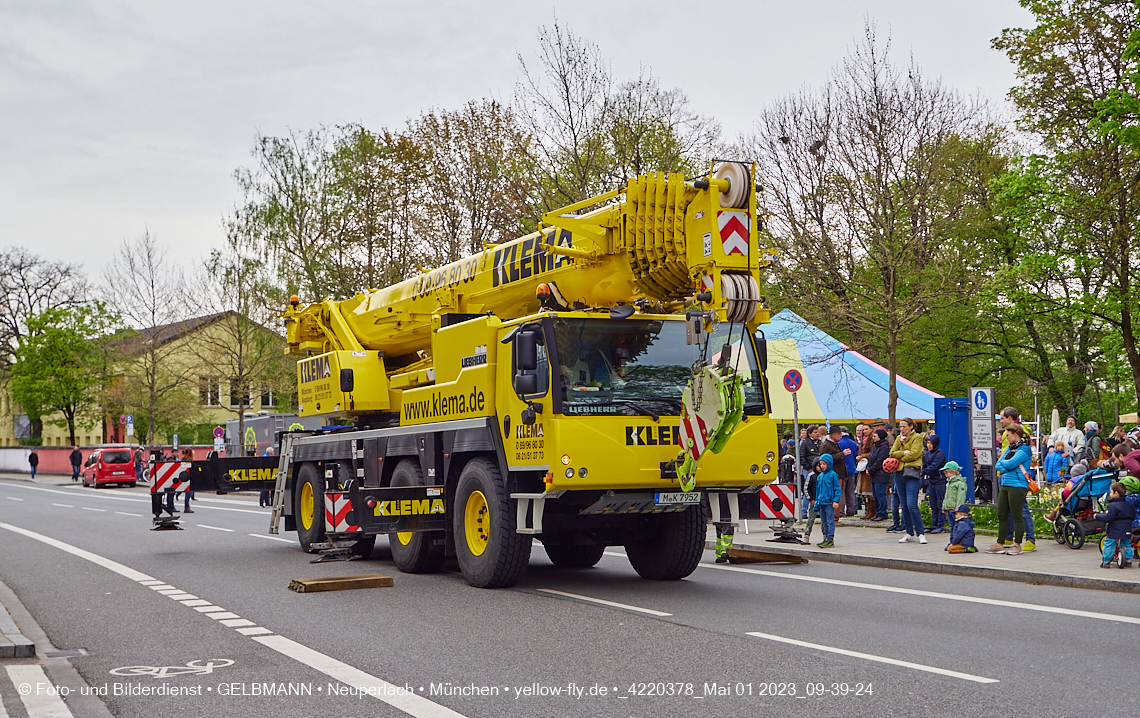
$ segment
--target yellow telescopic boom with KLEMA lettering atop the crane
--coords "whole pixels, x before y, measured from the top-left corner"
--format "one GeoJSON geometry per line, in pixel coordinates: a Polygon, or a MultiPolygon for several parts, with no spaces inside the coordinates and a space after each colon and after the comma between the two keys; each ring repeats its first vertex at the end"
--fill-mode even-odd
{"type": "Polygon", "coordinates": [[[722,321],[768,320],[759,268],[773,250],[756,211],[752,168],[722,162],[708,176],[642,174],[614,191],[543,218],[544,228],[479,254],[344,301],[285,311],[294,354],[382,351],[389,369],[424,359],[447,313],[506,320],[540,308],[645,300],[699,303],[722,321]]]}

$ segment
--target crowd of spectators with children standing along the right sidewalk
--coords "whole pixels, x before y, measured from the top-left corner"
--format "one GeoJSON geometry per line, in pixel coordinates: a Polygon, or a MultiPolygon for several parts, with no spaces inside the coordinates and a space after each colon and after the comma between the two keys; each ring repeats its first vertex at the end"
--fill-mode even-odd
{"type": "MultiPolygon", "coordinates": [[[[1127,478],[1113,481],[1107,495],[1097,497],[1094,509],[1102,511],[1090,509],[1088,519],[1099,522],[1093,530],[1106,533],[1101,565],[1109,565],[1117,547],[1124,554],[1124,565],[1131,565],[1133,532],[1140,536],[1140,427],[1129,434],[1116,426],[1102,439],[1097,422],[1086,422],[1082,430],[1076,417],[1069,416],[1064,426],[1043,439],[1039,466],[1033,440],[1017,409],[1002,409],[999,422],[1001,444],[993,497],[997,535],[985,552],[1017,556],[1036,550],[1028,496],[1040,490],[1039,482],[1064,484],[1061,504],[1045,515],[1053,522],[1064,513],[1069,492],[1084,486],[1080,482],[1086,475],[1107,481],[1126,471],[1127,478]]],[[[819,521],[823,540],[817,546],[831,548],[836,527],[844,525],[841,520],[858,516],[874,522],[889,520],[887,532],[902,535],[901,544],[928,544],[928,536],[947,533],[948,553],[978,552],[962,467],[947,460],[936,433],[920,433],[913,419],[901,419],[897,432],[881,419],[861,423],[854,436],[846,426],[809,425],[800,431],[798,443],[791,435],[783,436],[781,448],[784,455],[799,455],[805,540],[811,541],[819,521]],[[923,521],[922,501],[930,508],[929,524],[923,521]]]]}

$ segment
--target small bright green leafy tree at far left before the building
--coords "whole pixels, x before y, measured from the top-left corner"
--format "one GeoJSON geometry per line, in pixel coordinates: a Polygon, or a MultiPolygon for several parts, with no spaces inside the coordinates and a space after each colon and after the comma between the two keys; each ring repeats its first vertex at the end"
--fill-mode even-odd
{"type": "Polygon", "coordinates": [[[111,368],[107,338],[120,318],[101,303],[49,309],[27,319],[27,335],[11,368],[13,398],[40,417],[66,426],[75,443],[75,426],[101,417],[99,398],[111,368]]]}

